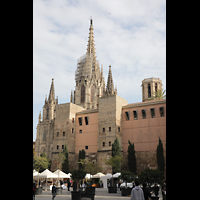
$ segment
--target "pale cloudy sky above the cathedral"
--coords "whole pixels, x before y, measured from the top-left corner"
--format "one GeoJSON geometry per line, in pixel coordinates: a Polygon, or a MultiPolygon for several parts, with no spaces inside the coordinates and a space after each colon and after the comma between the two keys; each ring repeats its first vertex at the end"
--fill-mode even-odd
{"type": "Polygon", "coordinates": [[[142,101],[145,78],[160,78],[166,89],[165,0],[33,0],[33,141],[52,78],[58,103],[70,101],[91,17],[105,83],[111,65],[128,103],[142,101]]]}

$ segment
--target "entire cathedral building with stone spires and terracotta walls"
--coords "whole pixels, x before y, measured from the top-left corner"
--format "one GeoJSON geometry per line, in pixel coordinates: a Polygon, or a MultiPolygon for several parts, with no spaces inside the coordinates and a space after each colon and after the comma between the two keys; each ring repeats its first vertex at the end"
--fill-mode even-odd
{"type": "Polygon", "coordinates": [[[93,31],[91,19],[87,51],[78,59],[76,86],[71,91],[69,103],[58,104],[52,79],[42,117],[39,114],[35,156],[46,153],[52,160],[54,171],[57,169],[56,158],[67,145],[70,169],[78,168],[78,154],[84,149],[86,158],[101,166],[103,173],[108,173],[111,168],[105,160],[111,156],[112,143],[117,137],[125,158],[128,140],[134,142],[138,172],[156,168],[159,137],[166,152],[166,99],[150,98],[162,90],[162,81],[159,78],[144,79],[142,102],[128,104],[117,95],[111,66],[105,85],[103,67],[96,60],[93,31]]]}

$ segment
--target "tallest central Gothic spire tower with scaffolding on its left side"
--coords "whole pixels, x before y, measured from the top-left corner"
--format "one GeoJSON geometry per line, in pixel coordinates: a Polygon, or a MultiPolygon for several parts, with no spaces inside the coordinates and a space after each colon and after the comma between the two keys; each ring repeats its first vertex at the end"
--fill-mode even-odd
{"type": "Polygon", "coordinates": [[[86,109],[98,108],[99,97],[103,96],[105,82],[103,78],[103,67],[96,60],[94,44],[94,28],[90,20],[89,38],[87,51],[78,59],[75,72],[76,89],[71,92],[70,101],[86,109]]]}

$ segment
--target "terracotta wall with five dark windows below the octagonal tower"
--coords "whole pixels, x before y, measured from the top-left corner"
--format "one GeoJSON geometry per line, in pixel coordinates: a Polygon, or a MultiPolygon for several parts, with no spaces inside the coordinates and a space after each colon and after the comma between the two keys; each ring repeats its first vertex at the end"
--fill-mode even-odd
{"type": "MultiPolygon", "coordinates": [[[[155,102],[155,101],[154,101],[155,102]]],[[[122,111],[122,146],[123,151],[128,150],[128,140],[134,142],[135,151],[155,151],[159,137],[166,149],[166,101],[153,103],[129,104],[122,111]],[[160,107],[164,107],[164,116],[160,116],[160,107]],[[151,117],[151,108],[155,108],[155,118],[151,117]],[[146,110],[146,119],[142,117],[142,109],[146,110]],[[138,119],[134,119],[133,111],[137,111],[138,119]],[[125,112],[129,111],[129,120],[125,112]]]]}

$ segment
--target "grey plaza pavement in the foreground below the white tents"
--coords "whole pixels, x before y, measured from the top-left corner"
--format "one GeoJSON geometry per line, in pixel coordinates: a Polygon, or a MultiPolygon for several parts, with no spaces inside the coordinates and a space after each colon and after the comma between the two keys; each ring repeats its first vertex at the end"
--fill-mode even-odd
{"type": "MultiPolygon", "coordinates": [[[[159,200],[162,200],[161,191],[159,192],[159,200]]],[[[41,195],[35,195],[35,200],[51,200],[51,191],[42,191],[41,195]]],[[[94,200],[130,200],[131,197],[121,196],[121,192],[108,193],[108,189],[96,188],[94,200]]],[[[57,195],[55,200],[71,200],[71,191],[63,190],[62,195],[57,195]]]]}

